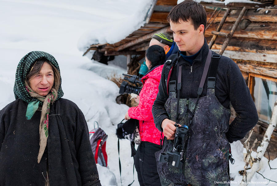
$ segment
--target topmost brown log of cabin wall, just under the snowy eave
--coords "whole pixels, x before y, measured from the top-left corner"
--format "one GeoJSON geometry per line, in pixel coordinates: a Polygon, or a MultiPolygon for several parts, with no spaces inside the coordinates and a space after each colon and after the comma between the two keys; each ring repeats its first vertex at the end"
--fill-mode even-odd
{"type": "MultiPolygon", "coordinates": [[[[214,22],[220,22],[224,16],[225,11],[221,11],[219,15],[215,18],[214,22]]],[[[235,22],[236,18],[239,16],[239,10],[232,10],[229,16],[226,18],[227,22],[235,22]]],[[[207,18],[211,16],[212,12],[207,13],[207,18]]],[[[277,22],[277,8],[274,9],[259,9],[257,10],[247,10],[244,14],[243,19],[248,19],[255,22],[277,22]]]]}

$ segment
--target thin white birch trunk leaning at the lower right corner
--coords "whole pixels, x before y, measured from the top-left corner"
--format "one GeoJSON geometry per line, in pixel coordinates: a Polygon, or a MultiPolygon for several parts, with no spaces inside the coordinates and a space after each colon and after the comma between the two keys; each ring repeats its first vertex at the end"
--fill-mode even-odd
{"type": "Polygon", "coordinates": [[[251,181],[251,179],[253,178],[254,174],[258,170],[260,161],[261,161],[261,159],[262,159],[262,157],[263,157],[263,155],[264,155],[264,153],[265,153],[265,151],[267,149],[269,140],[271,138],[271,134],[272,134],[273,130],[276,127],[276,122],[277,122],[277,99],[276,99],[276,101],[274,103],[274,109],[273,109],[272,118],[269,121],[268,128],[267,128],[267,130],[266,130],[266,132],[265,132],[265,134],[263,136],[263,141],[262,141],[261,145],[257,149],[257,156],[254,159],[253,165],[252,165],[251,169],[249,170],[249,172],[247,172],[247,174],[245,176],[243,176],[243,180],[242,180],[242,183],[240,184],[240,186],[246,186],[246,185],[248,185],[247,182],[251,181]]]}

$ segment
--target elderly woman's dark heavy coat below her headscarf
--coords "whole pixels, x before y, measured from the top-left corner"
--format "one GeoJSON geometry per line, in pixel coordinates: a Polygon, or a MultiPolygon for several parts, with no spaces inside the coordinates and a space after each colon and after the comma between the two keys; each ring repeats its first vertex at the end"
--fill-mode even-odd
{"type": "Polygon", "coordinates": [[[58,99],[50,106],[47,150],[38,164],[41,111],[25,117],[26,102],[17,99],[0,111],[0,185],[100,186],[86,120],[76,104],[58,99]]]}

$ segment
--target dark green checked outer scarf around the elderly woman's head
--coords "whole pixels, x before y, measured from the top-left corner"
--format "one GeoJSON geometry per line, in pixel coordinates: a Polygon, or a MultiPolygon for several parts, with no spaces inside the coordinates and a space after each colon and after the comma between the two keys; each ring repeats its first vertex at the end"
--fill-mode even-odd
{"type": "MultiPolygon", "coordinates": [[[[19,61],[19,64],[16,69],[15,83],[14,83],[15,99],[22,99],[27,103],[30,103],[31,101],[38,101],[38,99],[30,96],[29,92],[26,90],[24,81],[26,79],[28,72],[30,72],[30,67],[32,66],[32,64],[42,57],[45,57],[47,60],[49,60],[49,62],[55,68],[57,68],[58,72],[60,73],[58,62],[52,55],[41,51],[29,52],[19,61]]],[[[62,78],[60,78],[60,81],[62,83],[62,78]]],[[[63,91],[60,85],[58,88],[57,99],[61,98],[62,96],[63,96],[63,91]]]]}

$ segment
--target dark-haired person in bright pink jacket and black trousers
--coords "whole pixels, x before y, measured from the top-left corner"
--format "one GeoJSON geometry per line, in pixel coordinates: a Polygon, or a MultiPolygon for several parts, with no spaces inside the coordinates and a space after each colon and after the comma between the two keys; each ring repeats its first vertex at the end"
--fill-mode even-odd
{"type": "Polygon", "coordinates": [[[163,134],[155,127],[152,105],[158,94],[163,64],[165,61],[164,49],[159,45],[152,45],[145,53],[146,65],[149,71],[142,77],[143,88],[139,93],[139,105],[130,107],[125,119],[139,120],[139,134],[141,143],[134,157],[135,168],[138,173],[140,186],[161,185],[155,152],[161,150],[163,134]]]}

